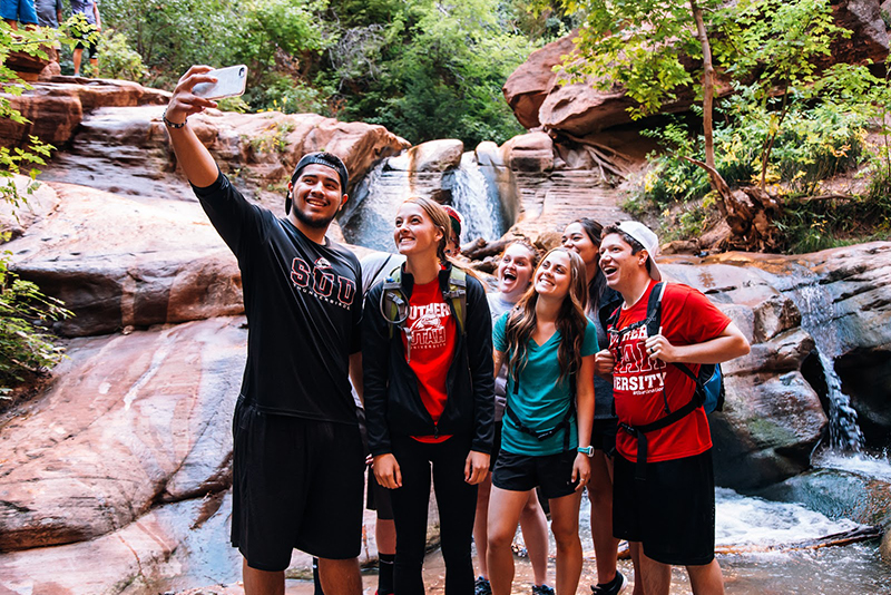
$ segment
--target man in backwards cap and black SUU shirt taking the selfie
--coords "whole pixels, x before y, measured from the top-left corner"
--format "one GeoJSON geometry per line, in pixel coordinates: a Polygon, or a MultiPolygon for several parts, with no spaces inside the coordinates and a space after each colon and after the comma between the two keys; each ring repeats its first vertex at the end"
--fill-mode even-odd
{"type": "Polygon", "coordinates": [[[232,543],[247,595],[284,593],[293,548],[320,558],[329,595],[359,595],[364,455],[362,275],[327,237],[346,203],[346,167],[311,153],[287,184],[285,217],[248,203],[189,128],[216,103],[193,92],[216,82],[193,66],[163,116],[183,172],[238,259],[248,322],[247,362],[234,416],[232,543]],[[361,392],[360,392],[361,397],[361,392]]]}

